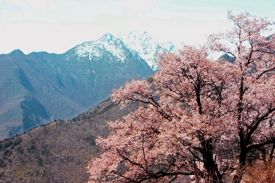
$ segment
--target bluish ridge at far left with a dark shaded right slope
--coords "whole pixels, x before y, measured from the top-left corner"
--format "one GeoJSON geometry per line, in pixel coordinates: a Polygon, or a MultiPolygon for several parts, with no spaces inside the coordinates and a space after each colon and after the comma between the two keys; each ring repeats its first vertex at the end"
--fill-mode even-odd
{"type": "MultiPolygon", "coordinates": [[[[11,55],[25,56],[19,50],[11,55]]],[[[49,119],[34,93],[33,85],[14,58],[0,55],[0,139],[29,130],[49,119]]]]}

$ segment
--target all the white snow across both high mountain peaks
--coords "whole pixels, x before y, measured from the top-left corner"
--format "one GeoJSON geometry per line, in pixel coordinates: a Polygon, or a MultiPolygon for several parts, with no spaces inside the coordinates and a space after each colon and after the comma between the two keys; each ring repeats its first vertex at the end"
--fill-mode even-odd
{"type": "Polygon", "coordinates": [[[115,60],[124,62],[125,48],[133,55],[137,54],[145,60],[152,70],[157,69],[156,58],[164,52],[174,52],[171,42],[160,43],[145,31],[121,32],[118,35],[105,34],[96,41],[84,42],[74,48],[78,57],[88,56],[90,60],[102,56],[104,51],[115,56],[115,60]]]}

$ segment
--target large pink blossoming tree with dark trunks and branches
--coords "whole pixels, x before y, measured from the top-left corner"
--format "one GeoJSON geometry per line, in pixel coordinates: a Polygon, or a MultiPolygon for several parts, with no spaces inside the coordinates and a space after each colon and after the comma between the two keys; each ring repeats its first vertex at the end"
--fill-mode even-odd
{"type": "Polygon", "coordinates": [[[88,164],[89,182],[173,182],[184,175],[240,182],[250,161],[272,159],[275,42],[261,36],[271,23],[248,13],[229,12],[229,19],[232,30],[209,36],[207,46],[160,56],[151,81],[114,90],[121,107],[143,105],[108,122],[111,134],[97,139],[103,151],[88,164]],[[212,60],[210,51],[234,62],[212,60]]]}

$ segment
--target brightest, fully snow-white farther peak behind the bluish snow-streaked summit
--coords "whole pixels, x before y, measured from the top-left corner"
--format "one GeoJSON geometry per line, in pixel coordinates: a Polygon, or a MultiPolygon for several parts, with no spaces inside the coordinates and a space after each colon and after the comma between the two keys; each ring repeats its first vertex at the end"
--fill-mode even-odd
{"type": "Polygon", "coordinates": [[[156,58],[164,52],[174,52],[175,46],[171,42],[159,43],[145,31],[121,32],[117,35],[131,50],[135,50],[146,60],[147,64],[155,71],[157,69],[156,58]]]}

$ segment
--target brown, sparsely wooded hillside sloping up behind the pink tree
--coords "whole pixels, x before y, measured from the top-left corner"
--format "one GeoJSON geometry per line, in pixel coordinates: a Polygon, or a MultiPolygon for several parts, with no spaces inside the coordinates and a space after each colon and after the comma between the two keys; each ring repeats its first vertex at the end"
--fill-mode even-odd
{"type": "Polygon", "coordinates": [[[0,182],[85,182],[91,155],[99,154],[95,138],[108,133],[105,120],[123,110],[110,100],[73,120],[58,120],[0,142],[0,182]]]}

